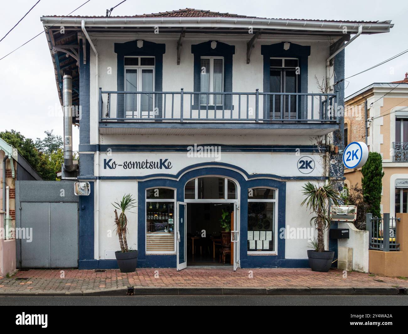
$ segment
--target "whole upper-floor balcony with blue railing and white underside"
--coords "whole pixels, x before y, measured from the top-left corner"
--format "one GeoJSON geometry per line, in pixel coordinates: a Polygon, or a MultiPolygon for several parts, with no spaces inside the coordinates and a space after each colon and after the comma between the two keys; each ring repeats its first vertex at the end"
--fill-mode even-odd
{"type": "Polygon", "coordinates": [[[339,128],[337,94],[99,91],[102,134],[290,134],[339,128]]]}

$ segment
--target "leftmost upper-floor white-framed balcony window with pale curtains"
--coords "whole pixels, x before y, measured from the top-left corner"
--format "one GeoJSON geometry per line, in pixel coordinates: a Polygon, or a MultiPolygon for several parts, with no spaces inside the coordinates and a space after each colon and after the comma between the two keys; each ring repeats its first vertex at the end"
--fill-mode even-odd
{"type": "MultiPolygon", "coordinates": [[[[154,90],[155,57],[124,57],[124,88],[126,92],[154,90]]],[[[126,117],[154,115],[153,94],[126,94],[126,117]]]]}

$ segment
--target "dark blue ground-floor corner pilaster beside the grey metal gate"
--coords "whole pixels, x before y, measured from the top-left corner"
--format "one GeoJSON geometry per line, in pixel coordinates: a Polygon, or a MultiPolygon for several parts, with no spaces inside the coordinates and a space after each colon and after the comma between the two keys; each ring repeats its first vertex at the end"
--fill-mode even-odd
{"type": "MultiPolygon", "coordinates": [[[[79,260],[94,260],[94,182],[88,196],[79,197],[79,260]]],[[[81,268],[80,268],[81,269],[81,268]]]]}

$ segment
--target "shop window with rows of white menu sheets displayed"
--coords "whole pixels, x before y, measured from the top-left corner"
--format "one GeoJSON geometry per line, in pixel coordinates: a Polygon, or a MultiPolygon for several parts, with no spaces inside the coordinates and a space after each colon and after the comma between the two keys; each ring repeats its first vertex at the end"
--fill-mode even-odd
{"type": "Polygon", "coordinates": [[[274,253],[276,190],[248,189],[248,253],[274,253]]]}

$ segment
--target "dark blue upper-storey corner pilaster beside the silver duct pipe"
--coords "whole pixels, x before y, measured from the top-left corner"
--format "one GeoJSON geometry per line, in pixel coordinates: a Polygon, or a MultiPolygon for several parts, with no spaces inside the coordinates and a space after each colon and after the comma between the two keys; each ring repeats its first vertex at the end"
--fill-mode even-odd
{"type": "Polygon", "coordinates": [[[80,39],[79,44],[79,105],[81,106],[81,119],[80,119],[80,127],[79,127],[79,143],[80,145],[89,144],[90,143],[90,115],[91,115],[91,107],[90,107],[90,100],[89,100],[89,92],[90,92],[90,46],[89,43],[86,42],[86,64],[84,64],[84,53],[82,48],[82,41],[80,39]]]}

